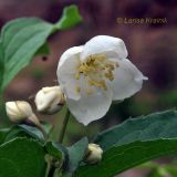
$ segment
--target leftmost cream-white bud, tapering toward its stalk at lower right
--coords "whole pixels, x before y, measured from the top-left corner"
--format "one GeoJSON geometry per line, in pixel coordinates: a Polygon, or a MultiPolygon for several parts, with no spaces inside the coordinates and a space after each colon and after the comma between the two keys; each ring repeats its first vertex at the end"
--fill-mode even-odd
{"type": "Polygon", "coordinates": [[[6,103],[7,115],[13,123],[28,122],[39,125],[40,122],[34,115],[31,105],[24,101],[7,102],[6,103]]]}

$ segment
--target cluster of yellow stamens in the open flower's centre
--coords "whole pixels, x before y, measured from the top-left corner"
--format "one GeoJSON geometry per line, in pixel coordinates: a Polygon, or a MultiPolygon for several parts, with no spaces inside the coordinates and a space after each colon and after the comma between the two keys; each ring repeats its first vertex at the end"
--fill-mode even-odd
{"type": "MultiPolygon", "coordinates": [[[[83,75],[88,86],[86,93],[91,94],[91,86],[107,90],[106,81],[114,80],[113,71],[118,67],[117,62],[108,61],[104,54],[93,54],[87,58],[84,63],[81,63],[75,73],[75,79],[80,80],[83,75]]],[[[80,92],[80,86],[76,86],[76,92],[80,92]]]]}

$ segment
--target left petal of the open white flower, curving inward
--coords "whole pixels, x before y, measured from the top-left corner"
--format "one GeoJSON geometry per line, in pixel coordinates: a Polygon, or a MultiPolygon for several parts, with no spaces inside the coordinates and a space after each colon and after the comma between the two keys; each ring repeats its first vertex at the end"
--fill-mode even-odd
{"type": "Polygon", "coordinates": [[[58,65],[58,80],[61,88],[69,98],[79,100],[80,94],[75,92],[79,81],[75,80],[77,65],[80,64],[80,53],[83,46],[74,46],[66,50],[58,65]]]}

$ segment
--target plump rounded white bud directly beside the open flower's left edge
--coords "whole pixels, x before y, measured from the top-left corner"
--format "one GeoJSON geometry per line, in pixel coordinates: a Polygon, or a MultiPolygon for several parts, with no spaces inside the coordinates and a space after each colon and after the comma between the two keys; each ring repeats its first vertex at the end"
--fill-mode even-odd
{"type": "Polygon", "coordinates": [[[39,112],[54,114],[62,108],[65,97],[60,86],[51,86],[40,90],[34,102],[39,112]]]}

